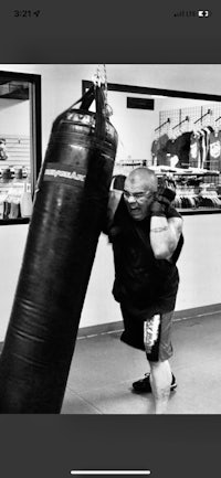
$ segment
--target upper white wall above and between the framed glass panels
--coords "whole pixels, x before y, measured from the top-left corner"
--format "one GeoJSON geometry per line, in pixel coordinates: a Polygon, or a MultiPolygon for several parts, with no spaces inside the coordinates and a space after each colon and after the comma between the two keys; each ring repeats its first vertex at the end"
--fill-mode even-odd
{"type": "MultiPolygon", "coordinates": [[[[92,79],[97,65],[0,64],[2,71],[42,76],[42,144],[54,118],[81,97],[82,79],[92,79]]],[[[106,65],[107,81],[127,85],[221,95],[221,65],[106,65]]]]}

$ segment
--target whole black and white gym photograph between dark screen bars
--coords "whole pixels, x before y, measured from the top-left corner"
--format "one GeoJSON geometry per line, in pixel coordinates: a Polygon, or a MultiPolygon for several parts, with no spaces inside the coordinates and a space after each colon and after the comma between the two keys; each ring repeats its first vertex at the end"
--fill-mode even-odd
{"type": "Polygon", "coordinates": [[[0,67],[1,413],[219,414],[221,66],[0,67]]]}

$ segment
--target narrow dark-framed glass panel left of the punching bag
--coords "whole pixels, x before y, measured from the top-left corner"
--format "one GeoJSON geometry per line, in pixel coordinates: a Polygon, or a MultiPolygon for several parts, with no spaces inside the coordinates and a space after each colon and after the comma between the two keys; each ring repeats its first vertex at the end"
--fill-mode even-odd
{"type": "Polygon", "coordinates": [[[0,74],[0,220],[9,223],[30,219],[32,213],[36,171],[32,86],[0,74]]]}

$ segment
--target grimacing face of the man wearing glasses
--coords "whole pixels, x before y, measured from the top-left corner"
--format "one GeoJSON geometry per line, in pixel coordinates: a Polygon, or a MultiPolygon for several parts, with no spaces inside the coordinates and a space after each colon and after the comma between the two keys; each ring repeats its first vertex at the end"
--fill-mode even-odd
{"type": "Polygon", "coordinates": [[[135,221],[143,221],[148,215],[152,202],[152,192],[141,179],[125,181],[124,199],[127,210],[135,221]]]}

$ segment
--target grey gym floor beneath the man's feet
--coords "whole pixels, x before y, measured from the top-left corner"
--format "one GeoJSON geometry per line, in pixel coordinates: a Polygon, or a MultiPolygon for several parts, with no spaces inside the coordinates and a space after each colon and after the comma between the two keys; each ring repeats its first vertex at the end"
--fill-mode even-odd
{"type": "MultiPolygon", "coordinates": [[[[120,342],[120,332],[80,338],[62,414],[152,414],[151,394],[131,382],[148,371],[145,353],[120,342]]],[[[221,414],[220,314],[175,321],[172,371],[178,387],[168,414],[221,414]]]]}

